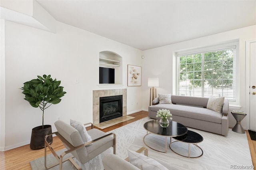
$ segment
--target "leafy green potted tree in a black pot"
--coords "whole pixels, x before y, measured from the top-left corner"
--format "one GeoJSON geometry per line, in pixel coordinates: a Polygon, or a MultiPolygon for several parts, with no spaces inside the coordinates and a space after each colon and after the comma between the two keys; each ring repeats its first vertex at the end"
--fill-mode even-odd
{"type": "MultiPolygon", "coordinates": [[[[38,126],[32,129],[30,148],[41,149],[44,148],[44,137],[46,134],[52,133],[51,125],[44,125],[44,110],[50,107],[52,104],[58,104],[61,101],[61,97],[66,94],[63,91],[63,87],[60,86],[60,81],[52,79],[51,75],[37,76],[37,79],[32,79],[24,83],[21,88],[22,93],[25,95],[25,100],[30,103],[32,107],[39,107],[42,112],[42,126],[38,126]]],[[[47,140],[52,143],[52,137],[48,137],[47,140]]]]}

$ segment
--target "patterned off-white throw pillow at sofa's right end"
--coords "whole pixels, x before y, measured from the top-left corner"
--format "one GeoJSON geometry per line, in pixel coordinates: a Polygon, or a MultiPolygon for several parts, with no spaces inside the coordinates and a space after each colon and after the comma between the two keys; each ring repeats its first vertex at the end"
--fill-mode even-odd
{"type": "Polygon", "coordinates": [[[224,97],[210,96],[206,108],[221,113],[223,104],[224,97]]]}

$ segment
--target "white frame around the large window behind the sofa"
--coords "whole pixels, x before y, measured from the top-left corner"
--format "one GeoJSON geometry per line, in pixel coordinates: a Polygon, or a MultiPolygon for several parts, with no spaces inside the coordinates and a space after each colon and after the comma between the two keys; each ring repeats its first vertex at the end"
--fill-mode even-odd
{"type": "Polygon", "coordinates": [[[174,52],[174,74],[173,76],[175,77],[174,79],[174,84],[175,87],[173,89],[174,94],[176,93],[178,95],[178,68],[179,68],[179,61],[178,57],[184,56],[184,55],[192,55],[192,54],[197,54],[197,53],[206,53],[206,52],[212,52],[212,51],[221,51],[227,48],[234,48],[236,51],[235,55],[235,90],[234,90],[234,97],[235,101],[230,101],[230,104],[232,105],[238,105],[239,104],[239,40],[233,40],[232,42],[228,43],[221,43],[218,45],[212,45],[212,46],[207,46],[207,47],[195,47],[195,48],[190,48],[190,49],[183,49],[179,51],[174,52]]]}

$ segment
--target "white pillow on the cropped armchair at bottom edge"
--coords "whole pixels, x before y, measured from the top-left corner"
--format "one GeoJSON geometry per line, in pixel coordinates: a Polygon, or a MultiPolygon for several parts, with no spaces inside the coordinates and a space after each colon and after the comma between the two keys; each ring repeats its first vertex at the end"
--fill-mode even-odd
{"type": "Polygon", "coordinates": [[[143,154],[128,150],[130,163],[140,170],[168,170],[156,160],[143,154]]]}

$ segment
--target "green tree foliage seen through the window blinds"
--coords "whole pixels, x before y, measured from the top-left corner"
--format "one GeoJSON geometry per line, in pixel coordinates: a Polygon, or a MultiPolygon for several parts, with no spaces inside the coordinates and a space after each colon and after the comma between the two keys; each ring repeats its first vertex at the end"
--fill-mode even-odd
{"type": "Polygon", "coordinates": [[[190,88],[228,88],[233,84],[233,49],[184,55],[179,58],[179,79],[190,88]]]}

